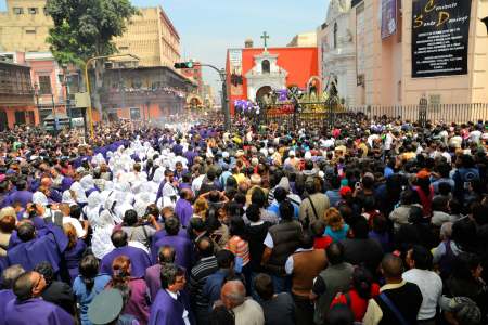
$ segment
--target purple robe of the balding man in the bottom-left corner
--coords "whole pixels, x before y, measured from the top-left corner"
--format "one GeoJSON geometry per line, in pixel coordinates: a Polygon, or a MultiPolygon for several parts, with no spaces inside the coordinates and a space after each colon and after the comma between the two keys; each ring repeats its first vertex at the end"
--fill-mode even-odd
{"type": "Polygon", "coordinates": [[[5,307],[5,323],[9,325],[70,325],[72,315],[61,307],[39,298],[26,301],[11,300],[5,307]]]}

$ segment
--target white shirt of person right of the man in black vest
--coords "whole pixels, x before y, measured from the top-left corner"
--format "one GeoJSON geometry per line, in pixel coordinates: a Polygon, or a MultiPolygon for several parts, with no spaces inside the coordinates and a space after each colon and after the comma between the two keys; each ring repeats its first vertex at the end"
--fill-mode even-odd
{"type": "Polygon", "coordinates": [[[442,281],[437,273],[428,270],[412,269],[403,273],[403,280],[414,283],[422,292],[422,304],[416,318],[431,320],[436,315],[437,303],[442,295],[442,281]]]}

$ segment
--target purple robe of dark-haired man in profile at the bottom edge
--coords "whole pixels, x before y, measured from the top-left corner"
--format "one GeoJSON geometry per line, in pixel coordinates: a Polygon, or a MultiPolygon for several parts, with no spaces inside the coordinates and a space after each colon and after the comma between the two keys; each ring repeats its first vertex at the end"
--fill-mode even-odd
{"type": "Polygon", "coordinates": [[[178,292],[178,300],[175,300],[164,289],[157,292],[156,299],[151,307],[150,325],[184,325],[184,310],[189,312],[190,324],[195,324],[188,296],[183,291],[178,292]]]}

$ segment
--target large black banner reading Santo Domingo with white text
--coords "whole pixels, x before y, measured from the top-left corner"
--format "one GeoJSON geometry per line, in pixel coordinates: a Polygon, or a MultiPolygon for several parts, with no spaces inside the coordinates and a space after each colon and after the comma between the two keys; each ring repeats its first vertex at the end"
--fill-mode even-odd
{"type": "Polygon", "coordinates": [[[412,78],[467,74],[471,0],[412,1],[412,78]]]}

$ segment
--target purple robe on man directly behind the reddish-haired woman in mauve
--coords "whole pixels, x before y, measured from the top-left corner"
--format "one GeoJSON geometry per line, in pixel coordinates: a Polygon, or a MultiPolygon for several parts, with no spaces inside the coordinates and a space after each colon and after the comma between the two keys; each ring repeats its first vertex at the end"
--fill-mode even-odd
{"type": "Polygon", "coordinates": [[[100,264],[100,272],[112,276],[112,262],[115,258],[123,255],[127,256],[130,260],[131,275],[133,277],[143,277],[145,269],[151,266],[151,259],[144,250],[131,246],[115,248],[105,255],[100,264]]]}

